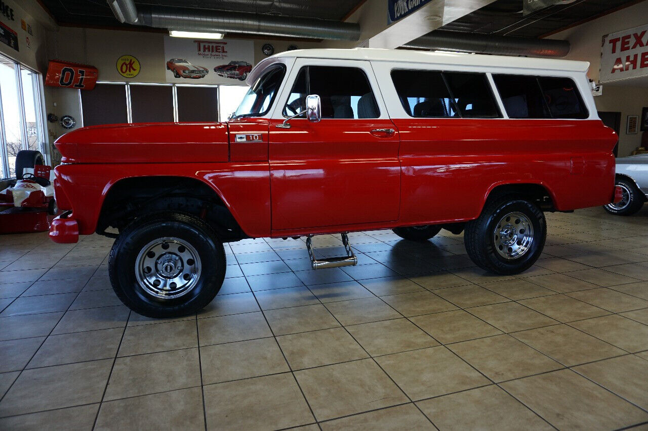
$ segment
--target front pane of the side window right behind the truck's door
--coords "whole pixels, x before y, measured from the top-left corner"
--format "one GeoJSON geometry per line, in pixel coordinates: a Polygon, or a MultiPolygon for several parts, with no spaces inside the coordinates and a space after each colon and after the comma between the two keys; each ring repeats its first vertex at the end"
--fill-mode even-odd
{"type": "Polygon", "coordinates": [[[458,116],[441,72],[396,70],[391,72],[405,112],[417,118],[458,116]]]}

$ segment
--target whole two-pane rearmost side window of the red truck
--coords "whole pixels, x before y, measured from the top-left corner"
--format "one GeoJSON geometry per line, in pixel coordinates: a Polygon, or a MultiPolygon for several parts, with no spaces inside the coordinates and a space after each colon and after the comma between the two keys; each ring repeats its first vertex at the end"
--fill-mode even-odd
{"type": "Polygon", "coordinates": [[[583,98],[570,78],[546,76],[492,76],[510,118],[589,117],[583,98]]]}

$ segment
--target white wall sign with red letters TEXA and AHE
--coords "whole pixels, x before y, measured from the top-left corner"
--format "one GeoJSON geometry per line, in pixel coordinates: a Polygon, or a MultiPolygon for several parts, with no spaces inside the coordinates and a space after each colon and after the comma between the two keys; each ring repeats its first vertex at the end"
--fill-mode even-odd
{"type": "Polygon", "coordinates": [[[648,24],[603,36],[602,83],[648,76],[648,24]]]}

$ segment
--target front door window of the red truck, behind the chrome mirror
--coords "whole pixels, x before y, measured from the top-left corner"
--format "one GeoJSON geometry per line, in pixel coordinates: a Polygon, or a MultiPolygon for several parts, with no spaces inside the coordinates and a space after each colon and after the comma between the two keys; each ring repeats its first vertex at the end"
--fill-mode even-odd
{"type": "Polygon", "coordinates": [[[369,80],[357,67],[305,66],[299,71],[284,115],[305,109],[308,94],[321,98],[322,118],[378,118],[380,111],[369,80]]]}

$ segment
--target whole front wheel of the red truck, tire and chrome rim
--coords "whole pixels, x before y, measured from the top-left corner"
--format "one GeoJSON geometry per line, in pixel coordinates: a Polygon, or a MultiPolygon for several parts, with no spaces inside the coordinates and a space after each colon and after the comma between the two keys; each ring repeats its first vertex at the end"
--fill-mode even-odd
{"type": "Polygon", "coordinates": [[[202,220],[168,212],[143,216],[110,251],[110,282],[130,309],[152,318],[196,313],[225,278],[223,245],[202,220]]]}

